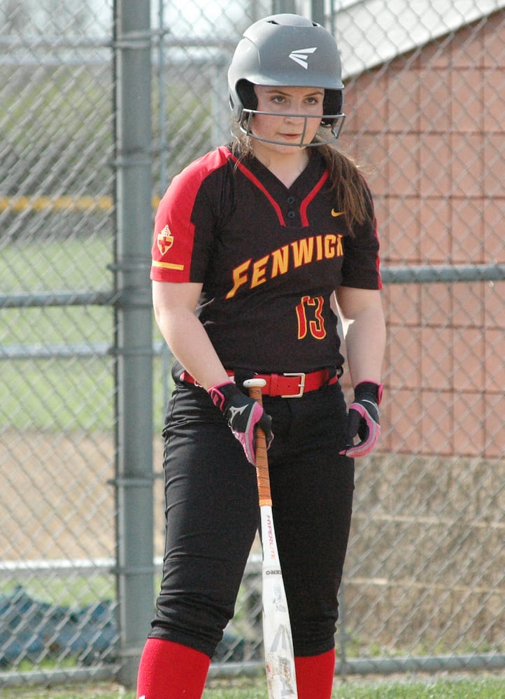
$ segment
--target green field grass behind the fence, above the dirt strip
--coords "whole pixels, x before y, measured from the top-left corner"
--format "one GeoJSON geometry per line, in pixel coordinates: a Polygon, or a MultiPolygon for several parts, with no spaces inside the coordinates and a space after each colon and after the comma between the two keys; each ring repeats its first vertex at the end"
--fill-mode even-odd
{"type": "MultiPolygon", "coordinates": [[[[112,243],[91,238],[76,247],[75,240],[45,241],[41,253],[32,256],[18,243],[0,249],[2,292],[108,291],[113,279],[107,270],[112,243]],[[78,253],[78,254],[77,254],[78,253]],[[27,261],[30,257],[30,264],[27,261]]],[[[0,429],[19,431],[27,425],[45,431],[108,431],[113,424],[113,356],[58,358],[58,348],[113,346],[113,308],[67,306],[64,308],[3,308],[0,345],[13,351],[32,347],[49,354],[47,359],[0,361],[0,429]]],[[[161,340],[153,320],[153,338],[161,340]]],[[[155,359],[155,431],[162,428],[164,396],[162,360],[155,359]]]]}

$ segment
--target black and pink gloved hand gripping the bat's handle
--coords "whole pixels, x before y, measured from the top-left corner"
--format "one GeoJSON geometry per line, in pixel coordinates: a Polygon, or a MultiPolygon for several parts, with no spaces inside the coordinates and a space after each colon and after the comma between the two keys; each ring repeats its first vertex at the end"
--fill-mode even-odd
{"type": "Polygon", "coordinates": [[[255,466],[255,427],[265,433],[266,445],[273,440],[272,419],[259,403],[248,398],[236,385],[229,381],[208,390],[216,405],[228,421],[236,439],[241,443],[248,461],[255,466]]]}

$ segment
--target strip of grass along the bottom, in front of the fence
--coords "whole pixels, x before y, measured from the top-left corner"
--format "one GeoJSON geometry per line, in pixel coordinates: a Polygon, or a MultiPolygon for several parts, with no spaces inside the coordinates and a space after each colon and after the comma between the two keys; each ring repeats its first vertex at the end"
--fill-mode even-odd
{"type": "MultiPolygon", "coordinates": [[[[267,699],[263,677],[225,682],[211,680],[203,699],[267,699]]],[[[111,684],[55,689],[0,690],[0,699],[134,699],[135,693],[111,684]]],[[[342,679],[334,682],[332,699],[503,699],[505,675],[427,677],[422,679],[342,679]]]]}

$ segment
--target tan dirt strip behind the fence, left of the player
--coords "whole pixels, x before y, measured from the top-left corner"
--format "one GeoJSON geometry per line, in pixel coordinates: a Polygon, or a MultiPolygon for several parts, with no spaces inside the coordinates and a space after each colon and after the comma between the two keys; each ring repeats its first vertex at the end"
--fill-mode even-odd
{"type": "MultiPolygon", "coordinates": [[[[162,442],[153,443],[153,470],[162,442]]],[[[2,561],[108,558],[114,552],[113,435],[0,434],[2,561]]],[[[155,554],[164,542],[162,479],[155,479],[155,554]]]]}

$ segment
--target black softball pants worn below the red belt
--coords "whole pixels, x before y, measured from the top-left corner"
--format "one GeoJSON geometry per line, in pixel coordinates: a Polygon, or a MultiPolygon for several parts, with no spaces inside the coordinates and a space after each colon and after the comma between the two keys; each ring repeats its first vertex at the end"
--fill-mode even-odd
{"type": "MultiPolygon", "coordinates": [[[[294,652],[334,647],[354,463],[339,456],[346,406],[338,383],[301,398],[264,396],[275,438],[269,466],[294,652]]],[[[178,382],[164,428],[166,549],[150,637],[213,656],[233,617],[259,526],[255,469],[206,391],[178,382]]]]}

